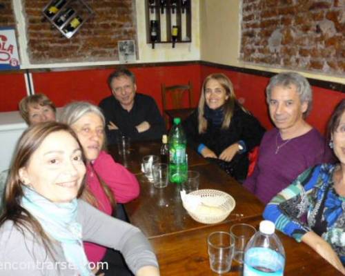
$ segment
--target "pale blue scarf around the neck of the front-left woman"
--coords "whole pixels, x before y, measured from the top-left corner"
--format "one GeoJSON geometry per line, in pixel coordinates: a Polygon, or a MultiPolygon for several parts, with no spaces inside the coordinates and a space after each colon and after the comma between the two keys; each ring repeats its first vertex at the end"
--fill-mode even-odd
{"type": "Polygon", "coordinates": [[[76,220],[77,199],[53,203],[26,186],[23,186],[23,193],[21,206],[39,221],[48,235],[61,242],[67,262],[75,266],[81,276],[93,275],[83,249],[81,224],[76,220]]]}

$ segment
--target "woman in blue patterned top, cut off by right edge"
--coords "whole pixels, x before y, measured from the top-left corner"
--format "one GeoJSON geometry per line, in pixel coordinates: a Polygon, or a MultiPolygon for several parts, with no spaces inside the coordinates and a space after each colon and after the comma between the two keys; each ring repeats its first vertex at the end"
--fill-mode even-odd
{"type": "Polygon", "coordinates": [[[345,275],[345,99],[333,112],[328,139],[339,163],[304,171],[273,197],[264,218],[297,242],[311,246],[345,275]]]}

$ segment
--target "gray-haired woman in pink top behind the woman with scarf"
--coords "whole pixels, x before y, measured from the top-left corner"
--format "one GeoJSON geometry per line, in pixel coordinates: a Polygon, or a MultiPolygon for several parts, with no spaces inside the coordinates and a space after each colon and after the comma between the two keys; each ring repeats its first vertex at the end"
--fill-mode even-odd
{"type": "MultiPolygon", "coordinates": [[[[85,101],[70,103],[63,108],[60,121],[75,131],[86,156],[86,189],[81,195],[83,199],[112,215],[116,210],[116,202],[124,204],[138,197],[139,183],[135,176],[117,164],[104,150],[105,119],[97,106],[85,101]]],[[[109,260],[108,256],[114,254],[107,252],[105,247],[92,243],[84,243],[84,247],[90,262],[108,262],[110,268],[114,264],[116,275],[126,275],[124,272],[119,274],[123,264],[118,260],[109,260]]]]}

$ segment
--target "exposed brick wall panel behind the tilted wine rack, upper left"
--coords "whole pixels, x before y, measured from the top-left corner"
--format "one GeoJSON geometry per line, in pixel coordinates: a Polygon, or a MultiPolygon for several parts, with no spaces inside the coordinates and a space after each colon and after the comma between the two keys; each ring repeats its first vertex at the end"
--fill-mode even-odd
{"type": "Polygon", "coordinates": [[[31,63],[118,60],[117,41],[137,41],[135,0],[84,0],[95,15],[70,39],[41,21],[49,0],[22,1],[31,63]]]}

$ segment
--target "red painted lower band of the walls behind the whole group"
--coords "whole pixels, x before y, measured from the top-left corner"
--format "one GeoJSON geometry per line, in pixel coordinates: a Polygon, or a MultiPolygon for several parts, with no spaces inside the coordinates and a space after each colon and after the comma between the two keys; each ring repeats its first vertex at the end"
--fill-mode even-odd
{"type": "MultiPolygon", "coordinates": [[[[267,129],[273,127],[270,123],[266,105],[265,88],[269,79],[242,72],[219,69],[213,66],[202,66],[195,63],[180,66],[148,66],[131,67],[137,77],[139,92],[151,95],[159,108],[161,103],[161,83],[166,86],[174,84],[193,83],[193,102],[197,106],[201,83],[213,72],[224,72],[235,88],[239,100],[244,102],[253,115],[267,129]]],[[[91,101],[98,104],[101,99],[110,95],[107,78],[112,69],[71,70],[61,72],[32,72],[35,92],[43,92],[57,106],[63,106],[70,101],[91,101]]],[[[26,86],[23,74],[0,74],[1,101],[0,111],[18,109],[18,103],[26,96],[26,86]]],[[[326,123],[335,105],[345,98],[345,94],[324,88],[313,87],[314,103],[311,115],[307,121],[324,133],[326,123]]]]}

